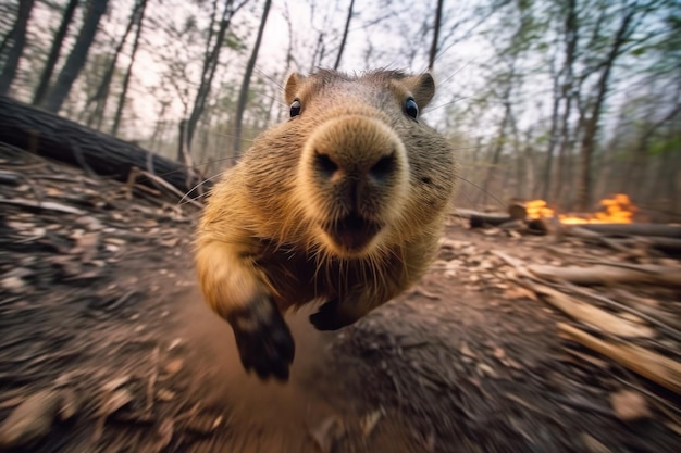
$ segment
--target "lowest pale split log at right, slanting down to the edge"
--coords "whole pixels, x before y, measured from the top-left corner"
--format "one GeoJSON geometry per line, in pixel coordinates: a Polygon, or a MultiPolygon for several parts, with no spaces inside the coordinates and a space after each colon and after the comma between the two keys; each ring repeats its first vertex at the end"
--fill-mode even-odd
{"type": "Polygon", "coordinates": [[[681,364],[678,362],[634,344],[602,340],[569,324],[558,323],[558,330],[564,338],[577,341],[674,393],[681,394],[681,364]]]}

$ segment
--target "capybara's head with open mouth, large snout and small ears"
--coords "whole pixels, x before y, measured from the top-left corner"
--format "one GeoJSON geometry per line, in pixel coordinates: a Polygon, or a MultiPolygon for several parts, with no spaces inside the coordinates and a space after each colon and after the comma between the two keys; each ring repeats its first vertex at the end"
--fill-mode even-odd
{"type": "Polygon", "coordinates": [[[288,139],[301,150],[296,209],[324,253],[367,256],[442,214],[455,164],[447,140],[421,119],[434,93],[430,74],[289,76],[288,139]]]}

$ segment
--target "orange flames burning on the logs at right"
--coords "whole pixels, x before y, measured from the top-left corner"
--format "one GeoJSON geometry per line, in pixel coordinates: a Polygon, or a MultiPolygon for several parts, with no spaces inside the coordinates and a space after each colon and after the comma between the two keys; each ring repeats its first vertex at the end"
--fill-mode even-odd
{"type": "MultiPolygon", "coordinates": [[[[624,193],[617,193],[612,198],[600,200],[600,211],[583,216],[558,214],[558,219],[564,224],[630,224],[636,207],[624,193]]],[[[528,217],[542,218],[555,217],[556,211],[548,207],[544,200],[532,200],[525,203],[528,217]]]]}

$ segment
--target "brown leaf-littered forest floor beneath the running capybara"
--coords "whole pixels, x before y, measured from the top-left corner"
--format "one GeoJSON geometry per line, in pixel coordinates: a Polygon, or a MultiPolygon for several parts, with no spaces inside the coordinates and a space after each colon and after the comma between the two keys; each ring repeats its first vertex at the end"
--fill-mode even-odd
{"type": "MultiPolygon", "coordinates": [[[[196,288],[197,209],[7,147],[0,205],[0,451],[681,451],[679,394],[561,337],[600,332],[518,265],[678,260],[451,216],[408,293],[337,332],[288,316],[290,380],[262,382],[196,288]]],[[[627,341],[679,362],[679,288],[595,293],[658,320],[622,315],[649,330],[627,341]]]]}

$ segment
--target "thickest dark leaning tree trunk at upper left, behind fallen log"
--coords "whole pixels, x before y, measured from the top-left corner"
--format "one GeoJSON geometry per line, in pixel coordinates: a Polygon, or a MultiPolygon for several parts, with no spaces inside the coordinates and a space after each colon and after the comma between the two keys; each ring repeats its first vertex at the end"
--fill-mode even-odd
{"type": "Polygon", "coordinates": [[[45,103],[48,111],[57,113],[61,110],[73,83],[85,66],[87,53],[95,41],[95,35],[97,35],[99,21],[107,11],[107,3],[108,0],[89,0],[87,2],[87,12],[76,42],[45,103]]]}

